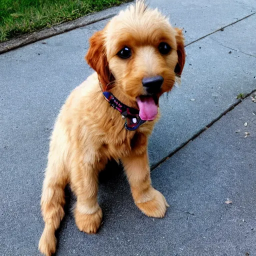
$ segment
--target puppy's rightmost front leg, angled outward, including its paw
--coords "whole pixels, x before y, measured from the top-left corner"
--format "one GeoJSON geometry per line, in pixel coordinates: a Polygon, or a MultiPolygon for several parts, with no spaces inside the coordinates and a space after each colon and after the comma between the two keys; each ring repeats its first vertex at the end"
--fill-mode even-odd
{"type": "Polygon", "coordinates": [[[169,205],[164,196],[151,186],[147,152],[121,160],[137,207],[147,216],[163,217],[169,205]]]}

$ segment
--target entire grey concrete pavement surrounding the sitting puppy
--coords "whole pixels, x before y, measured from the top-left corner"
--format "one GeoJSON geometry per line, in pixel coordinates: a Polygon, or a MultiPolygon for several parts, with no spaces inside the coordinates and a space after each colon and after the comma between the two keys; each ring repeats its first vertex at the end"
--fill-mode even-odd
{"type": "MultiPolygon", "coordinates": [[[[67,188],[56,255],[256,255],[256,2],[166,2],[149,5],[184,27],[187,45],[181,87],[161,99],[148,149],[167,214],[144,216],[110,163],[100,176],[99,232],[78,231],[67,188]]],[[[106,22],[0,55],[0,255],[39,255],[48,137],[66,96],[92,72],[88,38],[106,22]]]]}

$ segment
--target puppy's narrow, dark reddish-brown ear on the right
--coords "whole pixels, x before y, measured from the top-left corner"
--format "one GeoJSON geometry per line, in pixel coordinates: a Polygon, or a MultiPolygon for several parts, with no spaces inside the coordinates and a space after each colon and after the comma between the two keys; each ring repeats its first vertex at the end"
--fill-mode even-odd
{"type": "Polygon", "coordinates": [[[175,66],[174,72],[176,75],[180,76],[185,64],[185,49],[184,49],[184,37],[182,33],[182,29],[175,28],[176,31],[176,43],[177,43],[177,54],[178,54],[178,62],[175,66]]]}

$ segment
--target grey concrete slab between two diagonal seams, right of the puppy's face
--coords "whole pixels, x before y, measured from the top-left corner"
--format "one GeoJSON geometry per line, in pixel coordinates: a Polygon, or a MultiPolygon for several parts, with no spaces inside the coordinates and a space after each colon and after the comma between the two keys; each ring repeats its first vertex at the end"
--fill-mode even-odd
{"type": "Polygon", "coordinates": [[[253,54],[252,27],[256,27],[256,15],[241,22],[185,48],[182,85],[174,87],[167,99],[160,100],[162,118],[149,142],[152,165],[237,102],[239,93],[256,89],[256,58],[246,53],[253,54]],[[248,32],[244,41],[239,31],[248,32]],[[238,50],[229,53],[230,48],[225,45],[238,50]]]}

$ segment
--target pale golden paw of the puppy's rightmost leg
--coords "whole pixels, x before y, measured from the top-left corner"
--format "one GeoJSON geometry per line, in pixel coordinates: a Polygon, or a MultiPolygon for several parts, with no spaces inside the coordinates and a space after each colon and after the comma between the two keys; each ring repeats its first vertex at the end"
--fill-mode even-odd
{"type": "Polygon", "coordinates": [[[149,217],[164,217],[166,209],[169,207],[164,196],[156,189],[151,190],[150,193],[150,197],[152,198],[151,200],[136,203],[136,205],[143,213],[149,217]]]}

